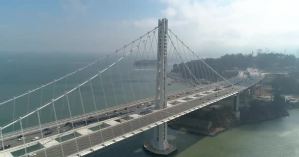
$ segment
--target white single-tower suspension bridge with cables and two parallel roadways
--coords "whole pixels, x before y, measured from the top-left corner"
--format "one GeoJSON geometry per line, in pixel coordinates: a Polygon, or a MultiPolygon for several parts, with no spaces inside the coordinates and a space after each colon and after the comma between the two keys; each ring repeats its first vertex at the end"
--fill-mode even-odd
{"type": "Polygon", "coordinates": [[[144,148],[168,155],[177,150],[167,139],[168,121],[228,97],[234,98],[232,113],[239,118],[239,95],[244,94],[246,102],[263,78],[255,69],[224,78],[168,28],[167,19],[161,19],[115,52],[0,103],[0,111],[12,115],[0,124],[0,157],[81,157],[150,129],[154,135],[144,148]],[[147,75],[152,67],[128,68],[150,57],[157,58],[155,75],[147,75]],[[169,67],[169,61],[178,64],[169,67]],[[66,87],[76,75],[83,78],[66,87]],[[136,80],[148,77],[154,78],[151,84],[136,80]],[[168,91],[173,86],[167,85],[169,79],[185,87],[168,91]],[[150,89],[151,96],[146,94],[150,89]]]}

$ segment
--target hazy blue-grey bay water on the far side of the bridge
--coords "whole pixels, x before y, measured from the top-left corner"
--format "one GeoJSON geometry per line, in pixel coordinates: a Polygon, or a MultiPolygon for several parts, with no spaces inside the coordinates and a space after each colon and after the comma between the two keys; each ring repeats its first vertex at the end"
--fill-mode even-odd
{"type": "MultiPolygon", "coordinates": [[[[14,101],[5,105],[0,105],[0,126],[4,126],[12,122],[14,119],[25,115],[26,113],[35,110],[41,105],[51,102],[52,99],[64,94],[72,88],[78,86],[79,83],[88,80],[99,71],[102,71],[120,58],[122,55],[111,56],[107,59],[96,63],[85,70],[61,79],[42,90],[31,92],[30,96],[26,95],[15,101],[15,113],[13,112],[14,101]],[[13,116],[15,115],[15,116],[13,116]]],[[[11,99],[14,96],[28,92],[28,90],[40,87],[42,84],[47,84],[54,79],[60,78],[82,68],[89,63],[101,58],[101,55],[83,55],[83,54],[1,54],[0,59],[0,102],[11,99]]],[[[156,66],[139,66],[133,67],[133,62],[138,57],[132,55],[127,56],[115,66],[109,68],[101,75],[103,86],[100,82],[100,77],[96,77],[91,81],[92,91],[94,94],[95,104],[97,109],[103,109],[107,106],[116,106],[123,103],[140,100],[154,96],[156,66]],[[134,70],[135,69],[135,70],[134,70]],[[147,69],[136,70],[136,69],[147,69]],[[103,92],[104,89],[104,92],[103,92]],[[105,94],[105,96],[104,96],[105,94]],[[107,100],[107,105],[106,101],[107,100]]],[[[170,65],[169,67],[171,67],[170,65]]],[[[174,84],[168,86],[167,91],[176,91],[190,87],[185,84],[174,84]]],[[[90,83],[80,87],[82,101],[85,112],[95,110],[92,98],[90,83]]],[[[75,90],[68,94],[68,99],[72,111],[72,115],[83,114],[79,90],[75,90]]],[[[67,118],[68,108],[66,97],[55,102],[57,118],[67,118]]],[[[55,120],[52,105],[48,105],[40,111],[42,123],[47,123],[55,120]]],[[[31,127],[38,124],[37,114],[31,115],[24,119],[23,127],[31,127]]],[[[20,124],[17,123],[4,130],[4,132],[20,129],[20,124]]]]}

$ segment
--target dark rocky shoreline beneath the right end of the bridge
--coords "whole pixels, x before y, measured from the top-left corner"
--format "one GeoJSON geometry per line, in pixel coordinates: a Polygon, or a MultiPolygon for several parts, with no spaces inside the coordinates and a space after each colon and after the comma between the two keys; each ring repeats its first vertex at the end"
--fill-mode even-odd
{"type": "Polygon", "coordinates": [[[256,124],[284,116],[289,116],[286,108],[276,108],[270,104],[260,104],[259,107],[241,107],[240,119],[237,120],[231,113],[230,106],[211,105],[181,116],[169,122],[168,126],[175,130],[215,136],[232,127],[256,124]]]}

